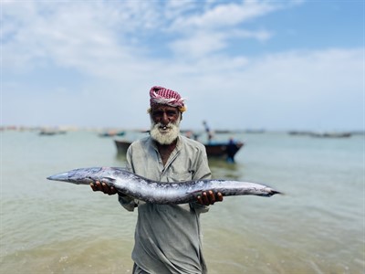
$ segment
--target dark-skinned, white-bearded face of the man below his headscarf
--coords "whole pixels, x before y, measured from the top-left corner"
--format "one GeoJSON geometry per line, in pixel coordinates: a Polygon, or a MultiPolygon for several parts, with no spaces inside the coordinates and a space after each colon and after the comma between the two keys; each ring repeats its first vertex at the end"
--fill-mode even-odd
{"type": "Polygon", "coordinates": [[[161,144],[171,144],[180,132],[181,113],[177,108],[157,105],[151,109],[151,137],[161,144]]]}

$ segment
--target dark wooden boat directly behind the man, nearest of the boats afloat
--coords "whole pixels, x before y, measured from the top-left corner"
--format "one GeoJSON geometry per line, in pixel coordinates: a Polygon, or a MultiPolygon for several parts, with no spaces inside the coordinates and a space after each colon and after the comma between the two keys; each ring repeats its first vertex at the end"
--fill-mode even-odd
{"type": "MultiPolygon", "coordinates": [[[[130,147],[129,141],[114,140],[118,153],[126,153],[130,147]]],[[[235,154],[244,146],[243,142],[209,142],[204,143],[208,157],[225,158],[235,162],[235,154]]]]}

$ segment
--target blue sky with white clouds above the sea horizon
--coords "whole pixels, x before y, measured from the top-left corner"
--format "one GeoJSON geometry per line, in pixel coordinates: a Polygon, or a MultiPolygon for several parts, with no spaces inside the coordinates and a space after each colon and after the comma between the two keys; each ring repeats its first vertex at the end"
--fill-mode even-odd
{"type": "Polygon", "coordinates": [[[363,0],[1,0],[1,126],[364,130],[363,0]]]}

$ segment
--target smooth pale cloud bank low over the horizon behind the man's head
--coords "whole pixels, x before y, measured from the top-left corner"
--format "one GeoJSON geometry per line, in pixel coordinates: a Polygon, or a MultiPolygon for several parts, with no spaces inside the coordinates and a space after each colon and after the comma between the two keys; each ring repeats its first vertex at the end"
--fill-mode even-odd
{"type": "Polygon", "coordinates": [[[221,56],[194,63],[193,69],[188,62],[161,61],[144,64],[146,74],[131,77],[121,70],[120,79],[89,80],[79,90],[62,90],[61,85],[47,96],[32,90],[24,94],[27,87],[18,83],[9,87],[11,94],[5,93],[5,113],[24,119],[24,110],[32,105],[26,117],[33,124],[46,115],[48,124],[53,119],[61,124],[147,127],[148,90],[157,84],[188,98],[185,127],[199,128],[200,120],[208,120],[214,128],[277,129],[284,124],[332,130],[342,121],[343,128],[358,129],[362,54],[361,49],[328,49],[262,58],[221,56]]]}

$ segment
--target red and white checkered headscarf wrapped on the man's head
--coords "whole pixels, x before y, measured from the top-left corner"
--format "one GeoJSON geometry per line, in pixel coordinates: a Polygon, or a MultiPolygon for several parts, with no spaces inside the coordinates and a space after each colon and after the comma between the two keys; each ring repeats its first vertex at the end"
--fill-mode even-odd
{"type": "Polygon", "coordinates": [[[168,90],[162,87],[154,86],[150,90],[150,105],[156,104],[168,105],[179,108],[180,111],[185,111],[184,99],[179,93],[173,90],[168,90]]]}

